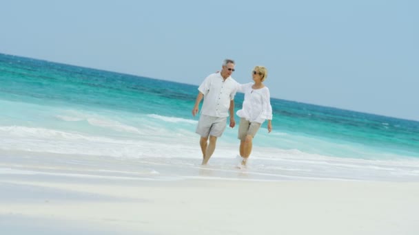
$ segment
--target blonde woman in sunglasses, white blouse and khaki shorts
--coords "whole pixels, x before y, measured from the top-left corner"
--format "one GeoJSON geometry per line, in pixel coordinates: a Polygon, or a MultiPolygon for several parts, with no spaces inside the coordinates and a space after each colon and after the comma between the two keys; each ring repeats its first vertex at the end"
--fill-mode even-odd
{"type": "Polygon", "coordinates": [[[263,85],[267,78],[267,69],[263,66],[254,67],[252,78],[254,83],[240,85],[238,89],[245,93],[243,107],[236,113],[238,117],[241,117],[238,126],[238,139],[241,140],[241,166],[246,166],[247,159],[252,153],[252,140],[265,120],[267,120],[268,133],[272,131],[272,106],[269,89],[263,85]]]}

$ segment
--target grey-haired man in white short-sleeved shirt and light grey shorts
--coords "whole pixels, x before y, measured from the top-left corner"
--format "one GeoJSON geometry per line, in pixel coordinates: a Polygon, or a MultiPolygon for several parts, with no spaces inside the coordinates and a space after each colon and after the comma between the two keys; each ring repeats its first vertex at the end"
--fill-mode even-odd
{"type": "Polygon", "coordinates": [[[199,117],[196,133],[201,135],[199,144],[203,154],[202,164],[206,165],[212,153],[214,153],[218,137],[223,135],[227,125],[227,117],[230,116],[230,127],[234,128],[234,96],[238,89],[238,83],[231,75],[234,72],[234,60],[226,59],[223,62],[221,72],[207,76],[198,87],[198,96],[192,115],[199,110],[199,103],[204,98],[201,117],[199,117]],[[208,138],[210,144],[208,144],[208,138]]]}

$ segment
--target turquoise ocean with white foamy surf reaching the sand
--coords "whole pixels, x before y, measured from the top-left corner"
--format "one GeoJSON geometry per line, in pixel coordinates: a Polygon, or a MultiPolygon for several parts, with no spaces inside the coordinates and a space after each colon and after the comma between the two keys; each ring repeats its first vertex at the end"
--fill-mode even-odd
{"type": "Polygon", "coordinates": [[[0,174],[23,170],[6,169],[13,159],[109,159],[150,179],[419,180],[419,122],[276,98],[273,131],[260,128],[247,169],[235,167],[238,125],[200,166],[197,88],[0,54],[0,174]]]}

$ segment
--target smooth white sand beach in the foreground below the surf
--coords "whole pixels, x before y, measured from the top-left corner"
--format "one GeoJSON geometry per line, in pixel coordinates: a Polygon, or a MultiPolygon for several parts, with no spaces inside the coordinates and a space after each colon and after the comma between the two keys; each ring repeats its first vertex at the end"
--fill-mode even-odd
{"type": "Polygon", "coordinates": [[[134,160],[2,159],[1,234],[419,234],[418,182],[157,180],[123,174],[134,160]]]}

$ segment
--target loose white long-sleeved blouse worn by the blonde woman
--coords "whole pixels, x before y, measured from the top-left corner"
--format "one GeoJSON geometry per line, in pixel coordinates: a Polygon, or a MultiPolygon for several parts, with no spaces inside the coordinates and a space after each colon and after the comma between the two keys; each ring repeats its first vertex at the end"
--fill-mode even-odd
{"type": "Polygon", "coordinates": [[[263,87],[252,89],[252,82],[239,85],[238,91],[245,93],[242,109],[236,114],[249,122],[262,124],[265,120],[272,120],[272,106],[270,101],[269,89],[263,87]]]}

